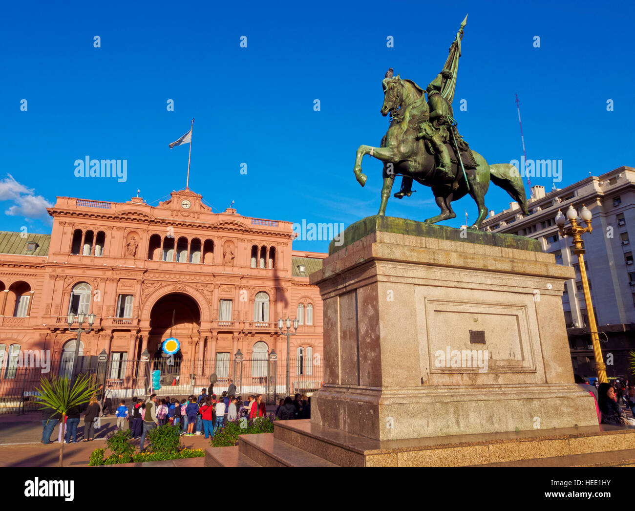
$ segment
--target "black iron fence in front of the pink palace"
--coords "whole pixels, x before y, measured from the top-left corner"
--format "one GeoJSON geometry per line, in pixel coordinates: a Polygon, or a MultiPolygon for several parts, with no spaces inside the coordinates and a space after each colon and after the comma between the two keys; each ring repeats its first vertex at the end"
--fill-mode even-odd
{"type": "MultiPolygon", "coordinates": [[[[41,379],[90,375],[93,382],[110,388],[112,406],[117,408],[118,400],[129,401],[131,397],[145,397],[152,392],[159,397],[187,397],[199,395],[201,388],[210,387],[210,376],[216,375],[213,384],[216,394],[227,390],[230,380],[236,385],[236,395],[243,399],[250,394],[262,394],[267,404],[274,404],[287,394],[286,360],[243,359],[227,360],[184,360],[180,357],[159,357],[148,360],[114,360],[107,357],[80,356],[77,367],[72,359],[53,357],[48,366],[36,361],[21,361],[17,364],[4,363],[0,367],[0,414],[26,413],[40,407],[32,401],[41,387],[41,379]],[[152,388],[152,372],[160,371],[161,388],[152,388]]],[[[306,361],[292,359],[289,364],[289,394],[311,395],[321,388],[323,366],[308,365],[306,361]]]]}

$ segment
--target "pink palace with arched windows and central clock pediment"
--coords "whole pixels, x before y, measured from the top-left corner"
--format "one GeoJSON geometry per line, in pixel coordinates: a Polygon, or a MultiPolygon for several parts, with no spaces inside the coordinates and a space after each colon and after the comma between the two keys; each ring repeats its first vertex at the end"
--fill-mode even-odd
{"type": "Polygon", "coordinates": [[[159,395],[199,392],[215,373],[215,390],[232,378],[238,392],[279,397],[287,338],[277,320],[286,317],[299,323],[291,392],[319,388],[322,303],[309,274],[326,254],[293,251],[290,222],[213,213],[189,189],[156,207],[58,197],[48,212],[50,235],[0,232],[3,402],[28,396],[40,376],[70,374],[71,313],[95,314],[76,367],[121,397],[147,391],[152,369],[159,395]],[[180,343],[173,357],[161,350],[168,338],[180,343]]]}

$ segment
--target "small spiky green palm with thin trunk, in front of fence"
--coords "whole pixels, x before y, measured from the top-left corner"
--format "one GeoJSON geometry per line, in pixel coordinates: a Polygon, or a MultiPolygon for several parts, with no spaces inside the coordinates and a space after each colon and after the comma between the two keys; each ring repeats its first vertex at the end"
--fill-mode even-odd
{"type": "MultiPolygon", "coordinates": [[[[66,424],[66,415],[71,408],[81,406],[90,401],[95,394],[97,385],[92,382],[89,375],[79,375],[73,383],[70,383],[68,376],[56,378],[51,381],[46,378],[40,379],[41,388],[36,390],[39,393],[33,401],[42,405],[42,410],[50,408],[62,414],[62,424],[66,424]]],[[[55,413],[51,413],[51,416],[55,413]]],[[[64,426],[62,426],[64,427],[64,426]]],[[[60,467],[64,458],[64,437],[60,442],[60,467]]]]}

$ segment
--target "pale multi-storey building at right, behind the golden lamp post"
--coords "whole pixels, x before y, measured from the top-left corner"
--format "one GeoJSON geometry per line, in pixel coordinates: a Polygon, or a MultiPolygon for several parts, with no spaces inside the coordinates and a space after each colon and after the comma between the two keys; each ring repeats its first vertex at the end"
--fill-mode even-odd
{"type": "Polygon", "coordinates": [[[518,204],[511,202],[509,209],[500,213],[490,211],[482,227],[538,239],[557,263],[577,270],[576,278],[566,282],[563,295],[566,328],[574,372],[593,376],[594,357],[578,257],[572,254],[570,237],[560,236],[554,221],[558,210],[566,214],[570,204],[578,213],[584,204],[593,215],[593,232],[584,234],[582,239],[607,374],[631,379],[628,353],[635,350],[635,265],[631,244],[635,242],[635,169],[622,166],[547,193],[544,187],[533,186],[529,216],[522,215],[518,204]]]}

